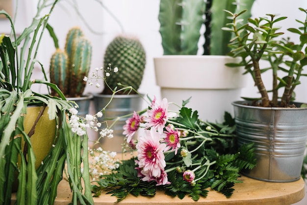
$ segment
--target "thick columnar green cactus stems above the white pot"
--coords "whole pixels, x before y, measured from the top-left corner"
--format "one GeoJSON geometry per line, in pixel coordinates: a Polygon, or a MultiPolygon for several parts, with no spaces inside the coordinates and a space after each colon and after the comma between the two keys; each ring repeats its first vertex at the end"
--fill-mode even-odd
{"type": "MultiPolygon", "coordinates": [[[[231,35],[222,27],[230,23],[223,9],[233,13],[252,8],[254,0],[161,0],[159,10],[160,34],[164,55],[196,55],[203,37],[204,55],[226,55],[231,35]],[[204,18],[205,16],[205,18],[204,18]]],[[[244,14],[244,21],[251,16],[244,14]]]]}

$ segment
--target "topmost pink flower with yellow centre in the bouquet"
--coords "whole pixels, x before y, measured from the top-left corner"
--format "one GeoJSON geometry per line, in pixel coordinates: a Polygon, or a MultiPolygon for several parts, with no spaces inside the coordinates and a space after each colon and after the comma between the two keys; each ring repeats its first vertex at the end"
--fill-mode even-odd
{"type": "Polygon", "coordinates": [[[158,130],[159,134],[163,133],[163,128],[165,127],[166,120],[169,117],[175,117],[176,113],[168,112],[168,102],[166,98],[162,101],[155,101],[152,104],[152,109],[147,110],[148,117],[145,118],[147,127],[154,127],[158,130]]]}

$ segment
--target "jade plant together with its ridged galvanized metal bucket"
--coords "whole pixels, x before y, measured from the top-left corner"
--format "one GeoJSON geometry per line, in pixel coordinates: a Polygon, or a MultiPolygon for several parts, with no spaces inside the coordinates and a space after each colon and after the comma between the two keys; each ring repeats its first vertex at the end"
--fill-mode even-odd
{"type": "MultiPolygon", "coordinates": [[[[297,38],[283,37],[287,17],[267,14],[241,24],[239,13],[227,11],[232,19],[224,30],[235,35],[230,55],[241,60],[258,88],[258,98],[232,102],[239,144],[255,143],[257,166],[244,174],[265,181],[287,182],[300,178],[307,140],[307,104],[295,102],[295,88],[307,76],[307,10],[298,28],[288,28],[297,38]],[[269,66],[260,61],[268,62],[269,66]],[[265,66],[265,67],[264,67],[265,66]],[[266,82],[263,73],[271,72],[266,82]]],[[[304,171],[304,170],[303,170],[304,171]]]]}

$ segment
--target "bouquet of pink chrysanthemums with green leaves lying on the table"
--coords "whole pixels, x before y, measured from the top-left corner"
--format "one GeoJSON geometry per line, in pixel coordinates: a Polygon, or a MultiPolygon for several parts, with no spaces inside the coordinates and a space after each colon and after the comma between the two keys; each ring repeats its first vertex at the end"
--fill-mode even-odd
{"type": "MultiPolygon", "coordinates": [[[[111,70],[106,69],[106,83],[111,70]]],[[[93,84],[98,78],[94,73],[86,80],[93,84]]],[[[256,165],[252,144],[236,146],[230,114],[225,113],[223,123],[210,123],[201,120],[197,111],[185,107],[188,100],[182,102],[179,112],[171,112],[166,98],[148,99],[148,108],[135,111],[124,126],[127,146],[134,154],[116,162],[118,166],[113,166],[109,174],[100,175],[92,186],[95,196],[106,191],[118,197],[119,202],[129,194],[154,196],[156,190],[163,190],[167,195],[180,199],[189,195],[197,201],[211,187],[230,197],[234,183],[241,182],[240,171],[256,165]],[[136,132],[137,140],[133,139],[136,132]]],[[[94,121],[90,124],[97,124],[94,121]]]]}

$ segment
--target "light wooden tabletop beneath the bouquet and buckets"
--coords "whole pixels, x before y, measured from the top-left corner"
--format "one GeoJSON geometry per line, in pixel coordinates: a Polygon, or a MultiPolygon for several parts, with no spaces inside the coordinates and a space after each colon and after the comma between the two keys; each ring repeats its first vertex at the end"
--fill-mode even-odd
{"type": "MultiPolygon", "coordinates": [[[[223,194],[210,191],[206,198],[194,202],[188,196],[180,200],[157,192],[154,197],[128,196],[118,205],[290,205],[301,201],[305,195],[305,182],[298,181],[287,183],[264,182],[242,176],[243,183],[234,185],[235,191],[230,198],[223,194]]],[[[55,205],[68,205],[72,193],[67,181],[62,180],[58,186],[58,195],[55,205]]],[[[94,198],[95,205],[114,205],[116,197],[102,194],[94,198]]]]}

